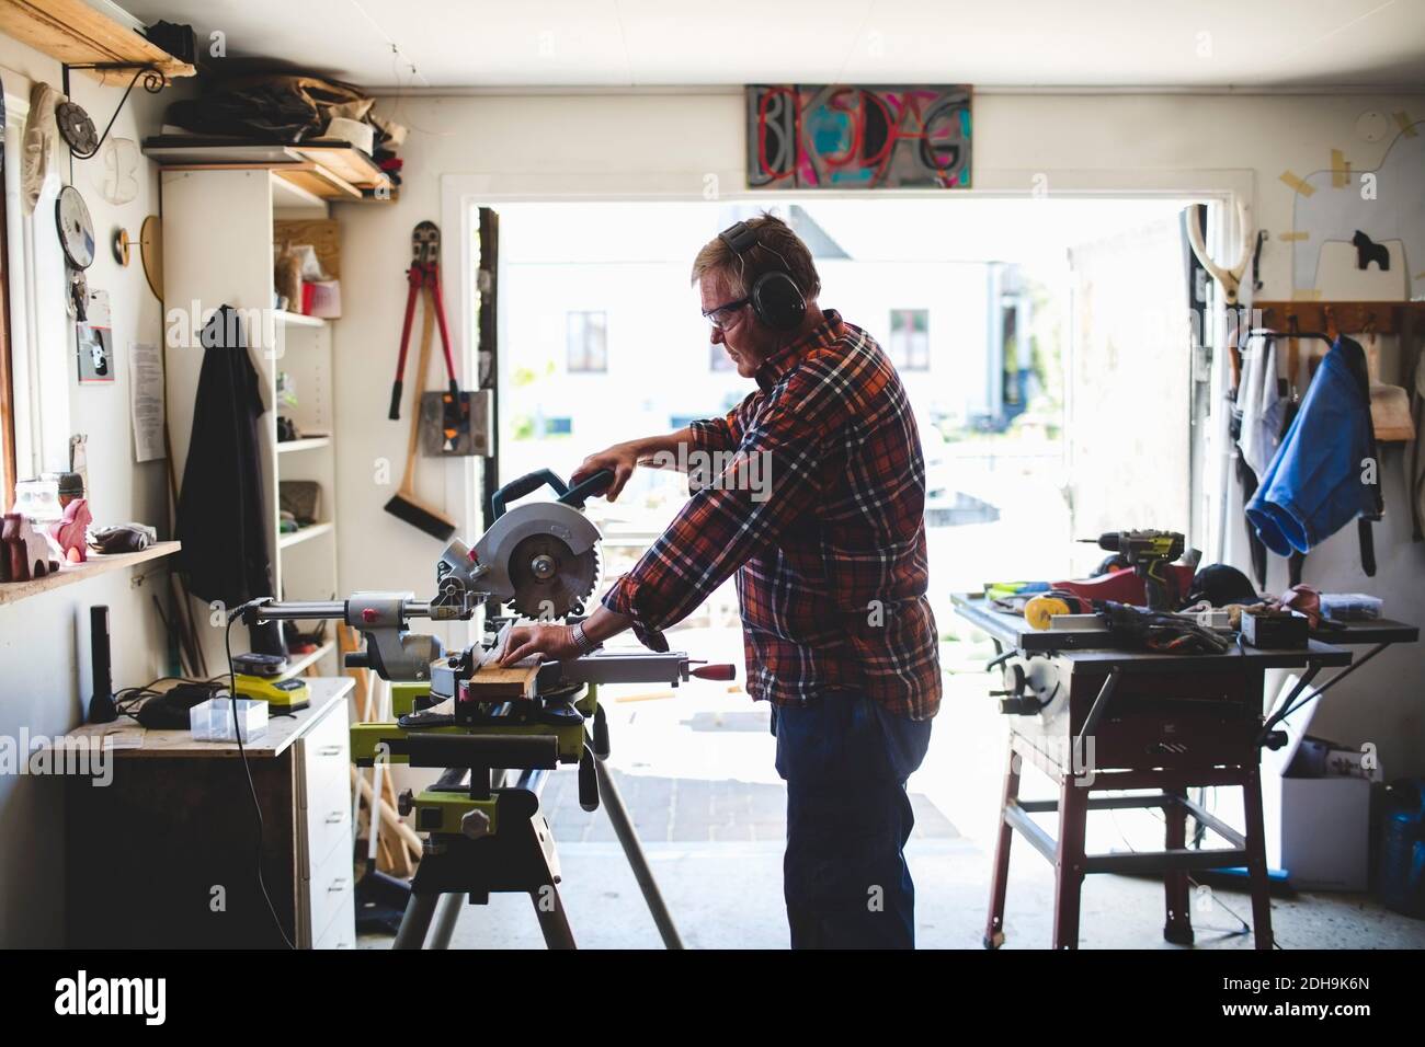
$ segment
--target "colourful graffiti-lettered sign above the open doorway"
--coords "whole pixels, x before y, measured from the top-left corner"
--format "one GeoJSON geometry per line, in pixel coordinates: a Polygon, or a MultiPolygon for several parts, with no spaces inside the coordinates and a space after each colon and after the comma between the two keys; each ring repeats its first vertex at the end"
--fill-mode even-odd
{"type": "Polygon", "coordinates": [[[747,88],[747,184],[772,189],[970,184],[968,84],[747,88]]]}

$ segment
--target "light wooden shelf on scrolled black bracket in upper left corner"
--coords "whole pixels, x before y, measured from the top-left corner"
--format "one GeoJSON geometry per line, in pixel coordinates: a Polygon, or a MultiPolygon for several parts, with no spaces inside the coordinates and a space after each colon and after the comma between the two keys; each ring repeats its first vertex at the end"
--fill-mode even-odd
{"type": "MultiPolygon", "coordinates": [[[[178,61],[84,0],[0,0],[0,33],[70,66],[88,63],[140,63],[155,66],[167,77],[191,77],[195,70],[178,61]]],[[[125,83],[133,73],[86,70],[100,81],[125,83]]]]}

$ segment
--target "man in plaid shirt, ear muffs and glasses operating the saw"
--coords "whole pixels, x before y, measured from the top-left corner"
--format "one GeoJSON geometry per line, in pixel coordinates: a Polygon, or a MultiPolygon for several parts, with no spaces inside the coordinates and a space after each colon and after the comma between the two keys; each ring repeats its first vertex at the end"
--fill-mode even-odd
{"type": "Polygon", "coordinates": [[[772,704],[787,781],[792,947],[912,947],[905,782],[940,704],[915,417],[881,346],[819,308],[811,252],[779,219],[711,241],[693,282],[712,343],[757,390],[574,477],[611,469],[614,500],[638,464],[722,464],[690,470],[691,500],[593,615],[512,630],[503,661],[573,658],[630,627],[667,650],[661,630],[735,571],[747,689],[772,704]]]}

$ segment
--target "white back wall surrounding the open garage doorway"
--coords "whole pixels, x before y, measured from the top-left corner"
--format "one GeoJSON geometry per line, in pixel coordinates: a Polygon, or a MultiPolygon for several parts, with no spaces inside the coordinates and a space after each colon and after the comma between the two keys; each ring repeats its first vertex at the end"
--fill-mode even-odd
{"type": "MultiPolygon", "coordinates": [[[[496,207],[542,197],[738,194],[744,108],[741,93],[727,91],[393,98],[382,101],[380,110],[410,127],[402,150],[400,198],[388,207],[336,209],[348,258],[362,259],[343,266],[349,305],[338,346],[341,573],[346,587],[425,590],[437,544],[385,514],[380,507],[390,487],[372,483],[373,460],[399,462],[405,442],[405,430],[385,420],[385,400],[400,332],[400,272],[410,228],[423,218],[445,222],[445,261],[452,266],[457,255],[449,241],[457,231],[442,204],[459,192],[496,207]]],[[[1275,236],[1292,228],[1292,189],[1278,179],[1282,171],[1304,177],[1325,168],[1332,148],[1341,148],[1357,171],[1379,161],[1387,142],[1369,144],[1355,134],[1357,117],[1367,110],[1421,115],[1425,100],[980,94],[975,100],[975,187],[1010,194],[1029,194],[1036,184],[1049,194],[1238,191],[1254,205],[1255,221],[1275,236]]],[[[1281,241],[1268,241],[1263,251],[1263,298],[1290,296],[1291,255],[1281,241]]],[[[455,313],[455,295],[449,301],[455,313]]],[[[439,497],[440,469],[422,463],[423,496],[439,497]]],[[[1378,528],[1378,577],[1372,583],[1359,577],[1354,540],[1342,534],[1312,554],[1307,578],[1328,590],[1371,588],[1385,597],[1391,614],[1422,621],[1425,547],[1408,541],[1399,466],[1391,456],[1387,473],[1387,503],[1394,511],[1378,528]]],[[[1391,775],[1425,772],[1425,731],[1411,711],[1419,699],[1414,671],[1421,660],[1419,648],[1382,655],[1361,671],[1358,682],[1332,697],[1321,728],[1344,742],[1375,741],[1391,775]]]]}

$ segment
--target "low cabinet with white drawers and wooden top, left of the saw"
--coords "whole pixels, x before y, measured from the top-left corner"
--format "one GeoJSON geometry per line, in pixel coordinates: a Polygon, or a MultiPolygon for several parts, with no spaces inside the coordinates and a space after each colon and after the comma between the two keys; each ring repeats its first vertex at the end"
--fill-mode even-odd
{"type": "MultiPolygon", "coordinates": [[[[309,707],[247,742],[262,809],[262,870],[302,949],[356,944],[351,741],[345,677],[309,677],[309,707]]],[[[237,742],[145,731],[120,717],[71,736],[107,738],[113,781],[67,781],[71,949],[284,947],[258,887],[258,825],[237,742]]]]}

